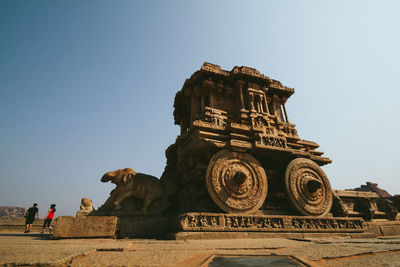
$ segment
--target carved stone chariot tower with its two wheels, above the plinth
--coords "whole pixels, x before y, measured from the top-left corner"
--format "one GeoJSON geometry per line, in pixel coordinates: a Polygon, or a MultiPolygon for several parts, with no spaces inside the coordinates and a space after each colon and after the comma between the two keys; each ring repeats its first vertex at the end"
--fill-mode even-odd
{"type": "Polygon", "coordinates": [[[333,196],[319,166],[331,160],[316,150],[318,144],[300,139],[289,121],[285,103],[293,93],[244,66],[226,71],[204,63],[185,81],[174,102],[175,124],[181,127],[171,155],[179,188],[175,212],[330,212],[333,196]],[[288,190],[285,172],[297,158],[316,168],[296,167],[299,175],[289,176],[288,190]]]}

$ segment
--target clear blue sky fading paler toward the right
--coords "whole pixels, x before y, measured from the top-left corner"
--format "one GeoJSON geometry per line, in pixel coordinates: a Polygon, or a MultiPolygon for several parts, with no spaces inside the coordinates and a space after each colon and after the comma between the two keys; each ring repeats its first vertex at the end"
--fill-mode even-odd
{"type": "Polygon", "coordinates": [[[334,189],[400,193],[399,1],[0,1],[0,206],[97,208],[160,177],[173,100],[204,61],[294,87],[289,118],[334,189]]]}

